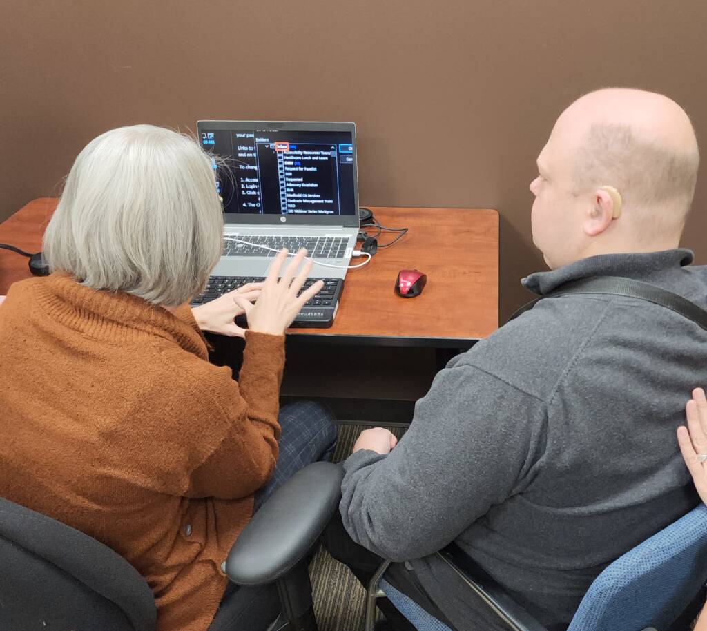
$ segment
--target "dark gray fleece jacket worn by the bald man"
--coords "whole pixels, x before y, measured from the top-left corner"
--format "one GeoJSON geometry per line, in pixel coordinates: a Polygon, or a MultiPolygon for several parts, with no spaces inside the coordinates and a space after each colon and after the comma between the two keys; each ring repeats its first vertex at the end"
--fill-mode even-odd
{"type": "MultiPolygon", "coordinates": [[[[544,295],[626,276],[707,308],[707,268],[691,261],[686,249],[592,256],[522,283],[544,295]]],[[[540,622],[566,629],[609,562],[696,505],[675,430],[705,384],[707,332],[670,309],[542,300],[436,376],[389,455],[346,460],[344,526],[409,560],[461,631],[505,627],[431,555],[452,540],[540,622]]]]}

